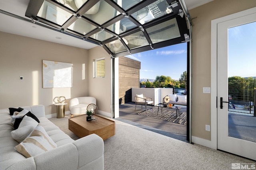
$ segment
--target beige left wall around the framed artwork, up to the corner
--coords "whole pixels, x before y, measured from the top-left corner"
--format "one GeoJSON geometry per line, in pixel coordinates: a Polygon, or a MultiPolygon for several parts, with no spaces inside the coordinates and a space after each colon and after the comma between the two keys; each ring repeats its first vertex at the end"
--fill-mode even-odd
{"type": "MultiPolygon", "coordinates": [[[[88,96],[88,50],[0,32],[0,109],[42,104],[56,113],[53,99],[88,96]],[[42,88],[42,60],[73,64],[72,88],[42,88]],[[24,80],[19,80],[23,76],[24,80]]],[[[65,107],[69,110],[68,105],[65,107]]]]}

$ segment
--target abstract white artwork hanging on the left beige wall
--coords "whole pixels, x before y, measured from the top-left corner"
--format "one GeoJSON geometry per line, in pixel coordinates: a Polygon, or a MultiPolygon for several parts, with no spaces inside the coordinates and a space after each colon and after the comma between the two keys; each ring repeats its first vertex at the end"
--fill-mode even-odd
{"type": "Polygon", "coordinates": [[[42,69],[43,88],[72,87],[72,63],[43,60],[42,69]]]}

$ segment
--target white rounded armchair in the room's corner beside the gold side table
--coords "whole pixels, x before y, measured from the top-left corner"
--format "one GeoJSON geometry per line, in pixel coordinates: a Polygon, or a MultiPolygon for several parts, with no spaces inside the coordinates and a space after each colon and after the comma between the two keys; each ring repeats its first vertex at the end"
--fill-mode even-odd
{"type": "Polygon", "coordinates": [[[89,104],[96,104],[96,98],[94,97],[78,97],[73,98],[69,102],[69,110],[71,115],[85,114],[87,106],[89,104]]]}

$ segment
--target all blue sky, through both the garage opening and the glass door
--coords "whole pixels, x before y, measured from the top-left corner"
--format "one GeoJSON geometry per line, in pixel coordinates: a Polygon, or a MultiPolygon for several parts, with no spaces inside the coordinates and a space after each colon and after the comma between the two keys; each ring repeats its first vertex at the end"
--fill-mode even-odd
{"type": "MultiPolygon", "coordinates": [[[[228,76],[256,76],[256,22],[228,29],[228,76]]],[[[179,80],[187,70],[187,43],[126,56],[141,62],[140,78],[170,76],[179,80]]]]}

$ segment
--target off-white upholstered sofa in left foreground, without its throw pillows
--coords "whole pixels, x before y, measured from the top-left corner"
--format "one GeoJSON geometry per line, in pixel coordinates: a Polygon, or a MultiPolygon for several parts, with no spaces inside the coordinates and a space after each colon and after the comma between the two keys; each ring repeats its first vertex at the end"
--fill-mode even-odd
{"type": "Polygon", "coordinates": [[[19,143],[11,135],[14,126],[9,109],[0,109],[0,170],[104,169],[104,142],[101,137],[92,134],[74,141],[45,117],[43,105],[22,108],[36,115],[57,147],[26,158],[14,149],[19,143]]]}

